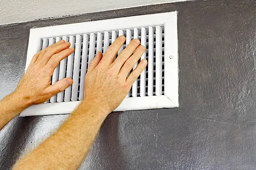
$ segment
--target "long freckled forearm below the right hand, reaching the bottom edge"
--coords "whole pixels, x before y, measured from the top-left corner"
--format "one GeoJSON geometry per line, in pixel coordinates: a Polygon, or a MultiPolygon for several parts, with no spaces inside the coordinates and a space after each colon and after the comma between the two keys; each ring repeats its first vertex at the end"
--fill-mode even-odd
{"type": "Polygon", "coordinates": [[[85,102],[54,135],[19,160],[14,170],[76,170],[108,115],[108,112],[85,102]]]}

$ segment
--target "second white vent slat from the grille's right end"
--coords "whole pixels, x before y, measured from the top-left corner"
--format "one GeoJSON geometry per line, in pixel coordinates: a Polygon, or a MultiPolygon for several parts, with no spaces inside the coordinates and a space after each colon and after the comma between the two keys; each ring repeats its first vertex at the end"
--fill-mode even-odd
{"type": "Polygon", "coordinates": [[[148,96],[153,95],[154,78],[154,28],[148,27],[148,96]]]}

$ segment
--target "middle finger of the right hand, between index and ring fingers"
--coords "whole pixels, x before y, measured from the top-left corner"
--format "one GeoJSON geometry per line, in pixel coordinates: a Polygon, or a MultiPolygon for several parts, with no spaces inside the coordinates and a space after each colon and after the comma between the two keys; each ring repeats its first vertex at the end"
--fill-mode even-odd
{"type": "Polygon", "coordinates": [[[140,40],[133,39],[130,44],[118,55],[110,67],[115,65],[115,69],[117,72],[119,72],[125,61],[133,54],[138,45],[140,45],[140,40]]]}

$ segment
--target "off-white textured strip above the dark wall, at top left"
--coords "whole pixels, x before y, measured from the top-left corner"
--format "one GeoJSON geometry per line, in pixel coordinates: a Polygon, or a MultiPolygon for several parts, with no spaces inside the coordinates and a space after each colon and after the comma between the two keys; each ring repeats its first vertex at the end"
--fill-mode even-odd
{"type": "Polygon", "coordinates": [[[0,0],[0,25],[186,0],[0,0]]]}

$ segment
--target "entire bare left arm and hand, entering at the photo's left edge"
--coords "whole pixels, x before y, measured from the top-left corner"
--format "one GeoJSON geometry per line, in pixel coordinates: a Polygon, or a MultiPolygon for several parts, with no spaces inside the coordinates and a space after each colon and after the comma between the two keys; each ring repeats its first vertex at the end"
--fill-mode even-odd
{"type": "Polygon", "coordinates": [[[70,78],[64,78],[51,85],[55,65],[74,52],[74,48],[69,49],[69,46],[69,42],[61,40],[33,56],[16,90],[0,101],[0,130],[30,105],[45,102],[72,85],[73,80],[70,78]]]}

